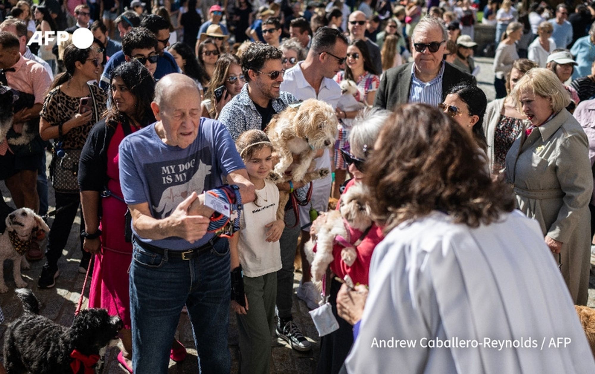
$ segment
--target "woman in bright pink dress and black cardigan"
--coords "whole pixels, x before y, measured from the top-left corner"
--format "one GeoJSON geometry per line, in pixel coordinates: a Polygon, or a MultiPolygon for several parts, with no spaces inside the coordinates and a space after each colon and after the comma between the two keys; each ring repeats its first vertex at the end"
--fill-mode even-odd
{"type": "Polygon", "coordinates": [[[85,221],[84,250],[95,253],[89,308],[105,308],[124,322],[124,349],[118,361],[131,372],[132,344],[128,268],[132,244],[125,239],[127,205],[118,176],[118,145],[123,138],[155,121],[151,102],[155,83],[138,61],[112,73],[104,120],[93,126],[79,163],[79,185],[85,221]],[[105,192],[104,192],[105,191],[105,192]]]}

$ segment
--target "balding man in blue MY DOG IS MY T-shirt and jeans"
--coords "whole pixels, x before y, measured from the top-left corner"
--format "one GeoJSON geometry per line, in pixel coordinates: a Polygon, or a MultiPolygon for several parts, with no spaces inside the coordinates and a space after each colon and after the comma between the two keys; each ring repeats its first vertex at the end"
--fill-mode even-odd
{"type": "Polygon", "coordinates": [[[225,126],[201,118],[192,78],[165,75],[151,108],[157,122],[126,137],[119,156],[132,217],[133,371],[167,373],[186,305],[201,370],[228,373],[230,252],[227,239],[208,232],[214,211],[202,205],[203,191],[221,191],[225,180],[228,202],[238,202],[239,194],[245,204],[254,186],[225,126]]]}

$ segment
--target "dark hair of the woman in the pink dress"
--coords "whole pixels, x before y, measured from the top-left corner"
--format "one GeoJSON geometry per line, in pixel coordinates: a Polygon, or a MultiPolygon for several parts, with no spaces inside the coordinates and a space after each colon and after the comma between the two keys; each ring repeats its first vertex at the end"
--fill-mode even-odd
{"type": "Polygon", "coordinates": [[[146,126],[155,122],[151,102],[155,95],[155,81],[151,73],[139,61],[132,60],[118,65],[111,73],[108,90],[108,109],[104,112],[105,123],[109,126],[116,126],[118,122],[129,122],[129,116],[120,112],[113,104],[114,97],[111,90],[111,83],[115,77],[120,77],[126,84],[130,93],[136,98],[136,112],[132,115],[140,126],[146,126]]]}

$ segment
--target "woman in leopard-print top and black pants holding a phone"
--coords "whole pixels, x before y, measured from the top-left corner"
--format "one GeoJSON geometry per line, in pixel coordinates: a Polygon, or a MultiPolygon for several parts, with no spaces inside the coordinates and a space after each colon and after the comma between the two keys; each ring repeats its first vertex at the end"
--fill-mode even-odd
{"type": "MultiPolygon", "coordinates": [[[[89,47],[74,45],[64,50],[66,71],[54,79],[40,113],[39,134],[43,140],[54,140],[50,175],[55,189],[56,216],[48,237],[46,264],[43,265],[37,286],[49,289],[60,275],[58,259],[66,246],[70,228],[80,205],[79,184],[76,179],[78,163],[84,142],[95,122],[105,110],[105,94],[87,81],[96,79],[101,67],[98,52],[89,47]]],[[[81,217],[81,227],[84,220],[81,217]]],[[[81,237],[81,249],[85,236],[81,237]]],[[[90,253],[83,251],[80,272],[86,272],[90,253]]]]}

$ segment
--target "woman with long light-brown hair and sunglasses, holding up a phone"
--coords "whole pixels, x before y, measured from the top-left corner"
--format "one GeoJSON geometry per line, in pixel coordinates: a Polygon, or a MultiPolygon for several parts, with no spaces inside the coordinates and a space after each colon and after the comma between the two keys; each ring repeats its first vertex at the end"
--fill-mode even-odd
{"type": "Polygon", "coordinates": [[[209,84],[205,99],[202,101],[202,116],[213,119],[219,118],[221,109],[232,97],[242,91],[245,83],[240,58],[230,53],[221,55],[217,63],[215,63],[211,84],[209,84]]]}

